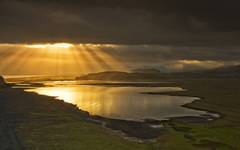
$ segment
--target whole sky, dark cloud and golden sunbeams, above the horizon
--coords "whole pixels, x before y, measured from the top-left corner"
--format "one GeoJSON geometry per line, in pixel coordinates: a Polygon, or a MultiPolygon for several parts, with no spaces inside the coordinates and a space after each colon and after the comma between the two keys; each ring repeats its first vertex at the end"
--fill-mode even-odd
{"type": "Polygon", "coordinates": [[[239,18],[239,0],[0,0],[0,74],[236,65],[239,18]]]}

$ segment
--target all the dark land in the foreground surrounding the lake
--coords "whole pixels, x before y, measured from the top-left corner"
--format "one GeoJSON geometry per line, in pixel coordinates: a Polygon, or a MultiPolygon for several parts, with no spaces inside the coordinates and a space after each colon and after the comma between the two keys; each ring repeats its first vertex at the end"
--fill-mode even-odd
{"type": "Polygon", "coordinates": [[[147,125],[157,121],[137,123],[94,117],[51,97],[3,87],[0,88],[0,149],[240,149],[240,79],[169,79],[162,84],[188,91],[145,94],[201,97],[202,100],[185,107],[217,112],[222,117],[211,122],[191,117],[172,118],[161,122],[164,129],[155,130],[147,125]],[[101,122],[128,136],[103,127],[101,122]]]}

